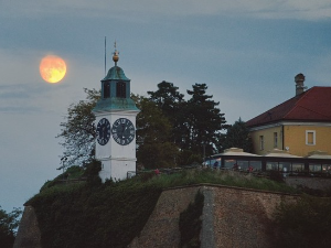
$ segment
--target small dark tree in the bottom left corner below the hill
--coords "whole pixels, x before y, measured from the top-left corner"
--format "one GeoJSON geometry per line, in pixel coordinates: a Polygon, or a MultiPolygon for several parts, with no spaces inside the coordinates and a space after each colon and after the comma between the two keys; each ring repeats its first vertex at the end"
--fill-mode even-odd
{"type": "Polygon", "coordinates": [[[17,231],[20,224],[22,211],[14,208],[11,213],[7,213],[0,206],[0,244],[3,248],[13,246],[17,231]]]}

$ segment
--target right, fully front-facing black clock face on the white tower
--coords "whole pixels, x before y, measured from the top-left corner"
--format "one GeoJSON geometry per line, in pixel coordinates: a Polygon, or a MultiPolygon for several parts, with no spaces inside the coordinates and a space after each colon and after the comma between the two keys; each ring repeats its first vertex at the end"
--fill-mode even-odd
{"type": "Polygon", "coordinates": [[[131,143],[131,141],[135,139],[135,133],[136,129],[134,123],[126,118],[117,119],[111,128],[113,138],[120,145],[131,143]]]}

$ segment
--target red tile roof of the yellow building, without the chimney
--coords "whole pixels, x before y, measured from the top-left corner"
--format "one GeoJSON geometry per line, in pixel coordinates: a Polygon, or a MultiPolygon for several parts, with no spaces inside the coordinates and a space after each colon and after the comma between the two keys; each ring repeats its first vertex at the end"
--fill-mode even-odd
{"type": "Polygon", "coordinates": [[[248,120],[246,125],[256,127],[281,120],[331,122],[331,87],[312,87],[248,120]]]}

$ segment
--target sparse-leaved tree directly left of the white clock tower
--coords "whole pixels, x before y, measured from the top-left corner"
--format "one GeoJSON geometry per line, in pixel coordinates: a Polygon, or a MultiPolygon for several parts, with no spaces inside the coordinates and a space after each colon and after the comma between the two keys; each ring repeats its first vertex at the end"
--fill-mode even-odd
{"type": "Polygon", "coordinates": [[[66,121],[61,122],[61,133],[56,137],[64,140],[61,142],[65,150],[61,157],[64,166],[89,163],[94,159],[96,131],[92,109],[100,98],[100,91],[87,88],[84,91],[86,100],[68,107],[66,121]]]}

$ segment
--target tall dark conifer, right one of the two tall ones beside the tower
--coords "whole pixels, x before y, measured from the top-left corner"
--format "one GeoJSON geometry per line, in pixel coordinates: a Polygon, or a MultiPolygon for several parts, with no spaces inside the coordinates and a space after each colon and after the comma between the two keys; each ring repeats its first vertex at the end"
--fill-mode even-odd
{"type": "Polygon", "coordinates": [[[213,96],[206,95],[205,84],[195,84],[193,90],[188,90],[191,99],[182,109],[184,118],[183,149],[193,154],[207,155],[217,152],[222,130],[227,126],[224,114],[217,108],[220,103],[212,100],[213,96]]]}

